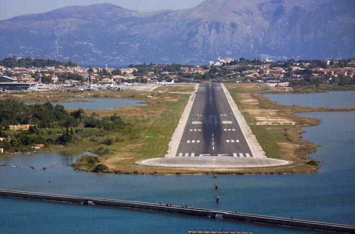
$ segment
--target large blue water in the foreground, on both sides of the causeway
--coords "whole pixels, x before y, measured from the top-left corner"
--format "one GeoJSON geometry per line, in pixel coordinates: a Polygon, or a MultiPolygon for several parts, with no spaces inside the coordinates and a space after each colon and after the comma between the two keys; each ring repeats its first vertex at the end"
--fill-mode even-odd
{"type": "MultiPolygon", "coordinates": [[[[304,128],[303,137],[322,145],[312,158],[324,161],[317,174],[202,176],[114,175],[74,171],[76,155],[65,152],[1,159],[0,187],[68,195],[109,197],[239,212],[355,224],[355,112],[302,114],[322,124],[304,128]],[[39,168],[59,163],[48,170],[39,168]],[[52,180],[52,183],[48,183],[52,180]],[[214,183],[220,184],[216,191],[214,183]],[[214,196],[221,196],[220,204],[214,196]]],[[[104,207],[0,199],[3,233],[187,233],[188,228],[250,229],[254,233],[315,231],[166,215],[104,207]]]]}

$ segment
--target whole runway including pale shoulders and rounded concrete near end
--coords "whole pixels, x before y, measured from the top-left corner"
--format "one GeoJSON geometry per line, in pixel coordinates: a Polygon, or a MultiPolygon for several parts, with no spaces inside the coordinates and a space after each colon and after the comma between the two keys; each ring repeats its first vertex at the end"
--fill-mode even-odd
{"type": "Polygon", "coordinates": [[[228,90],[219,83],[199,85],[169,144],[170,151],[164,158],[137,163],[185,168],[252,168],[291,163],[265,156],[228,90]]]}

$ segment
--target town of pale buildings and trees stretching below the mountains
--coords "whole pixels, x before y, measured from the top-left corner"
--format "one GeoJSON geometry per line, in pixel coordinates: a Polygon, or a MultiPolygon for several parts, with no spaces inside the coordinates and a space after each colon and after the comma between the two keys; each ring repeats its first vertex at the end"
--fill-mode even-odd
{"type": "Polygon", "coordinates": [[[203,81],[266,83],[272,88],[355,84],[355,60],[269,61],[218,58],[207,65],[136,64],[83,67],[68,61],[9,57],[0,61],[0,91],[127,90],[121,86],[203,81]]]}

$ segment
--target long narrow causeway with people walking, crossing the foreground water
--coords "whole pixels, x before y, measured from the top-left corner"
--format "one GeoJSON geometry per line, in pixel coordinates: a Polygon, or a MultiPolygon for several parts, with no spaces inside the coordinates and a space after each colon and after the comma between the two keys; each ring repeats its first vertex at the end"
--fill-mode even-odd
{"type": "Polygon", "coordinates": [[[123,209],[134,209],[143,211],[163,212],[188,216],[200,216],[206,218],[219,218],[223,220],[244,221],[258,224],[269,224],[294,228],[306,228],[322,231],[333,231],[341,233],[355,233],[355,226],[335,223],[315,222],[298,219],[288,219],[272,216],[253,215],[246,213],[235,213],[228,211],[201,209],[198,207],[181,207],[175,205],[164,205],[149,202],[116,200],[107,198],[93,198],[82,196],[67,196],[47,193],[23,192],[14,190],[0,190],[0,197],[32,199],[51,202],[63,202],[83,205],[99,205],[123,209]]]}

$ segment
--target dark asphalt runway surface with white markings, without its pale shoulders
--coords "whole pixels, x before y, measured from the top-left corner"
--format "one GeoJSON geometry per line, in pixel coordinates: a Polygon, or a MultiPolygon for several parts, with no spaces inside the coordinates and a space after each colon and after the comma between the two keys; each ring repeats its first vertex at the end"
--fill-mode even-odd
{"type": "Polygon", "coordinates": [[[175,157],[253,158],[219,83],[200,84],[175,157]]]}

